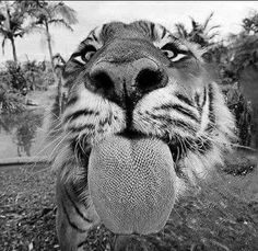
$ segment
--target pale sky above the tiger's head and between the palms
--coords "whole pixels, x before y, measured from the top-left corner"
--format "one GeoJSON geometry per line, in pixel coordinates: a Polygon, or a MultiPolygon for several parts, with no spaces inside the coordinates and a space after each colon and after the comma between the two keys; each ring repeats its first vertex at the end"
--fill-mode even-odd
{"type": "MultiPolygon", "coordinates": [[[[89,32],[103,23],[136,20],[157,22],[173,32],[175,23],[181,22],[190,27],[190,16],[203,22],[214,12],[210,26],[221,25],[221,36],[237,33],[242,30],[242,20],[251,10],[258,11],[258,1],[64,1],[78,13],[79,23],[73,32],[51,27],[54,54],[60,53],[68,58],[84,39],[89,32]]],[[[1,37],[0,37],[1,42],[1,37]]],[[[20,60],[48,59],[48,50],[43,35],[31,34],[16,39],[17,58],[20,60]]],[[[12,59],[10,43],[5,53],[0,52],[0,62],[12,59]]]]}

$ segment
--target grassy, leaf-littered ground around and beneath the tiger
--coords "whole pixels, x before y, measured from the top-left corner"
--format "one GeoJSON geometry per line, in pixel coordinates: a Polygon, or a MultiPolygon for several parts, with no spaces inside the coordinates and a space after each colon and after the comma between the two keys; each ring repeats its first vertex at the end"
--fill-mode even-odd
{"type": "MultiPolygon", "coordinates": [[[[237,161],[234,168],[243,170],[243,162],[237,161]]],[[[258,170],[246,170],[242,176],[220,172],[223,175],[216,173],[200,184],[201,190],[176,204],[160,233],[120,238],[117,243],[130,242],[121,249],[130,251],[257,250],[258,170]]],[[[55,176],[49,169],[0,169],[1,250],[59,250],[55,214],[55,176]]],[[[112,250],[114,238],[98,226],[90,232],[84,250],[112,250]]]]}

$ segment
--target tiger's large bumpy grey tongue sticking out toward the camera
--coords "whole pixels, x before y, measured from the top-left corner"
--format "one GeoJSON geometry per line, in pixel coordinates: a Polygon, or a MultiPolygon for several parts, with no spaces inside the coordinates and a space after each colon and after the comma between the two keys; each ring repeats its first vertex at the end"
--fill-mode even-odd
{"type": "Polygon", "coordinates": [[[113,136],[93,147],[89,186],[95,209],[115,233],[160,231],[175,201],[175,171],[159,139],[113,136]]]}

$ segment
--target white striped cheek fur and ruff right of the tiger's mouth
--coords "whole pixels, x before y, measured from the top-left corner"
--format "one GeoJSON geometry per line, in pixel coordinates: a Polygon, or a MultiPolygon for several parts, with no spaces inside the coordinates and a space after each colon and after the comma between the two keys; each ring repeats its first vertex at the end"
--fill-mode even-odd
{"type": "MultiPolygon", "coordinates": [[[[176,84],[150,93],[137,105],[133,123],[146,135],[168,136],[187,145],[176,166],[179,176],[183,173],[190,183],[223,164],[224,151],[231,149],[235,137],[234,117],[213,82],[203,84],[192,99],[180,94],[176,84]]],[[[184,192],[184,181],[178,180],[179,193],[184,192]]]]}

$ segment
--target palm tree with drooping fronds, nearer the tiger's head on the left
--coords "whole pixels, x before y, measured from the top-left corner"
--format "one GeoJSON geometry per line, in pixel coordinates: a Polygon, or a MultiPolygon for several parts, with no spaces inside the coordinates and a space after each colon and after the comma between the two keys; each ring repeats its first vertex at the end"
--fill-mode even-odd
{"type": "Polygon", "coordinates": [[[56,3],[38,1],[35,5],[35,9],[31,11],[31,15],[34,19],[32,26],[34,26],[34,28],[39,28],[39,31],[44,32],[45,34],[50,56],[50,62],[54,69],[54,54],[49,26],[55,24],[73,31],[71,25],[78,22],[75,11],[63,2],[56,3]]]}

